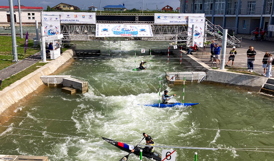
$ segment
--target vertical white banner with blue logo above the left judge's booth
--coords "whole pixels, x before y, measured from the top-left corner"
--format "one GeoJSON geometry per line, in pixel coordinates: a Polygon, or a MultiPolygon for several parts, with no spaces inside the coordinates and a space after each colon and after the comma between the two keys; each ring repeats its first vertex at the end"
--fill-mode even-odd
{"type": "Polygon", "coordinates": [[[60,34],[60,16],[59,15],[41,15],[42,25],[44,26],[45,36],[60,34]]]}

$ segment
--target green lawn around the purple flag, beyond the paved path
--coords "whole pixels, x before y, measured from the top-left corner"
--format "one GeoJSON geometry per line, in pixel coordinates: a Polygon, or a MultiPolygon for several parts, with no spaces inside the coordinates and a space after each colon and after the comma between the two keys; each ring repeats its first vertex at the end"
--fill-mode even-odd
{"type": "MultiPolygon", "coordinates": [[[[16,43],[17,47],[17,54],[18,54],[18,60],[23,60],[27,57],[30,57],[31,55],[37,53],[40,51],[40,48],[38,50],[36,49],[27,49],[26,50],[26,56],[24,56],[25,53],[25,38],[21,39],[20,37],[16,37],[16,43]]],[[[10,65],[14,64],[15,62],[12,62],[13,55],[12,55],[12,37],[11,36],[0,36],[0,70],[9,67],[10,65]]],[[[28,46],[32,48],[33,46],[33,40],[28,39],[28,46]]]]}

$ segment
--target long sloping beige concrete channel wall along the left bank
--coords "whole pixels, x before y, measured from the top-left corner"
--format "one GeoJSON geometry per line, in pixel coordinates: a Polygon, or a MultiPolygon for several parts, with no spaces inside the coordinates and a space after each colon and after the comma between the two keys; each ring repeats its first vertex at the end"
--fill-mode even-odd
{"type": "MultiPolygon", "coordinates": [[[[5,87],[0,91],[0,115],[12,116],[15,114],[14,110],[19,105],[19,101],[22,102],[30,98],[33,94],[43,90],[43,81],[40,79],[42,75],[54,74],[56,70],[65,67],[65,63],[73,56],[71,49],[66,50],[61,57],[55,60],[51,60],[43,67],[28,74],[22,79],[11,84],[9,87],[5,87]]],[[[0,124],[8,120],[9,117],[0,116],[0,124]]]]}

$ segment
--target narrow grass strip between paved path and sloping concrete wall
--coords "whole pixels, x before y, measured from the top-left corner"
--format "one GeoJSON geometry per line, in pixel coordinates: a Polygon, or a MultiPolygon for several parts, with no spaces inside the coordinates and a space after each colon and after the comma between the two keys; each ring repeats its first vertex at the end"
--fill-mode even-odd
{"type": "Polygon", "coordinates": [[[0,91],[3,90],[3,88],[8,87],[9,85],[11,85],[12,83],[16,82],[17,80],[20,80],[21,78],[25,77],[26,75],[30,74],[31,72],[37,70],[40,67],[36,67],[36,66],[44,66],[47,63],[35,63],[32,66],[26,68],[25,70],[5,79],[2,81],[1,84],[1,89],[0,91]]]}

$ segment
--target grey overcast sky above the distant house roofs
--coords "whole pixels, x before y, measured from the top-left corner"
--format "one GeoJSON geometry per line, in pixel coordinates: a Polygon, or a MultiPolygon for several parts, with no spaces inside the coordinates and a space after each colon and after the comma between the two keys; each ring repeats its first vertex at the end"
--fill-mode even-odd
{"type": "MultiPolygon", "coordinates": [[[[38,6],[43,7],[44,9],[47,9],[47,5],[49,5],[50,7],[54,7],[61,2],[70,5],[76,5],[79,8],[83,8],[84,5],[84,9],[86,9],[86,7],[92,6],[93,4],[95,7],[100,9],[100,0],[20,0],[21,5],[33,7],[38,6]]],[[[123,5],[123,2],[125,3],[125,7],[128,9],[140,9],[140,7],[142,7],[142,0],[101,0],[101,7],[104,7],[105,5],[123,5]]],[[[9,0],[0,0],[0,3],[0,5],[9,5],[9,0]]],[[[150,10],[156,9],[156,5],[158,6],[158,9],[161,9],[166,5],[171,6],[174,10],[176,10],[177,7],[180,7],[179,0],[143,0],[143,4],[144,9],[148,8],[150,10]]],[[[18,0],[13,0],[13,5],[18,5],[18,0]]]]}

